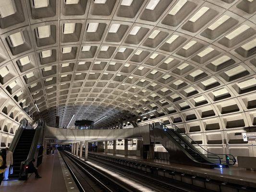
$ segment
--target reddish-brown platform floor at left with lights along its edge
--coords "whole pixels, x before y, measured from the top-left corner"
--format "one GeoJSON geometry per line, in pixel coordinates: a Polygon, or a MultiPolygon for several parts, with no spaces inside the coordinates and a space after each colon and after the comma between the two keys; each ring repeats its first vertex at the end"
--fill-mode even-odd
{"type": "Polygon", "coordinates": [[[79,192],[58,150],[43,157],[38,173],[42,178],[33,173],[28,180],[3,180],[0,192],[79,192]]]}

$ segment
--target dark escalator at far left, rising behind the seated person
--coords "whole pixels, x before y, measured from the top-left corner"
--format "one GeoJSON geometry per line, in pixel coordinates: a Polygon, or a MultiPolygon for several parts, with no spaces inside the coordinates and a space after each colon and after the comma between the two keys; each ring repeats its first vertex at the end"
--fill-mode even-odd
{"type": "Polygon", "coordinates": [[[34,129],[27,120],[22,120],[10,145],[10,151],[12,151],[13,156],[13,173],[9,175],[10,179],[26,180],[25,166],[33,158],[36,159],[37,165],[40,165],[42,157],[42,128],[41,121],[39,121],[37,128],[34,129]]]}

